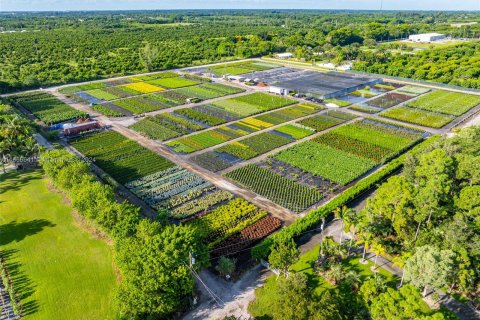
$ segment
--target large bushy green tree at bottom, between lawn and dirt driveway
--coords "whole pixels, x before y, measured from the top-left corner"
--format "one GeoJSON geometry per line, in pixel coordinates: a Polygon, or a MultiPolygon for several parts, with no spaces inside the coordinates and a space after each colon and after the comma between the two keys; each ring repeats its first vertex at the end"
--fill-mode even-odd
{"type": "Polygon", "coordinates": [[[129,318],[168,318],[189,305],[195,281],[189,253],[197,265],[205,261],[205,248],[188,226],[162,226],[142,220],[134,237],[118,244],[117,261],[123,280],[118,300],[129,318]]]}

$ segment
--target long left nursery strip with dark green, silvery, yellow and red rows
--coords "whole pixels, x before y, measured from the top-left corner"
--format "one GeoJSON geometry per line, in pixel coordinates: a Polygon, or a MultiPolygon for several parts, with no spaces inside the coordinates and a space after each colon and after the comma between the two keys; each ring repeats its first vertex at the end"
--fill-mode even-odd
{"type": "Polygon", "coordinates": [[[248,201],[235,198],[119,133],[96,133],[71,143],[95,158],[96,165],[150,207],[168,209],[169,218],[198,228],[205,243],[224,254],[242,246],[245,237],[259,241],[281,225],[248,201]],[[232,248],[225,249],[224,242],[232,248]]]}

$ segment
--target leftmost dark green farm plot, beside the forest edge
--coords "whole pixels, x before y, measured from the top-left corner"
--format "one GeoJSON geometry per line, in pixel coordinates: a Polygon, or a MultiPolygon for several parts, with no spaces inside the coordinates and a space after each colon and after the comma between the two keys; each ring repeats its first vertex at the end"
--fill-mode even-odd
{"type": "Polygon", "coordinates": [[[82,118],[87,115],[44,92],[16,95],[11,97],[11,99],[47,125],[82,118]]]}

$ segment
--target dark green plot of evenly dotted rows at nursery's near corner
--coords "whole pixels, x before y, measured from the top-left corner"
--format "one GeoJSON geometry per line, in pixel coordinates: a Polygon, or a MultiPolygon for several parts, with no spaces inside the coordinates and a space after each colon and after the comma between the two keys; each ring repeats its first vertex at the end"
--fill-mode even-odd
{"type": "Polygon", "coordinates": [[[253,164],[225,176],[294,212],[304,211],[323,198],[323,195],[313,188],[302,186],[253,164]]]}

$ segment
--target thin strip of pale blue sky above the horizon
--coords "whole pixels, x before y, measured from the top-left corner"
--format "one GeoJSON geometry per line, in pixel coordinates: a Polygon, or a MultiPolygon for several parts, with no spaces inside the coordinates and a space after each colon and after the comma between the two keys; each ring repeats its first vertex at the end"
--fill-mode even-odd
{"type": "MultiPolygon", "coordinates": [[[[0,0],[0,11],[130,9],[380,9],[382,0],[0,0]]],[[[386,10],[480,10],[480,0],[383,0],[386,10]]]]}

